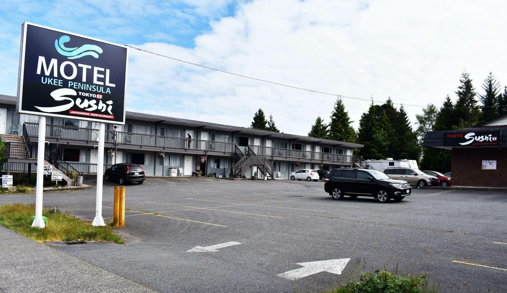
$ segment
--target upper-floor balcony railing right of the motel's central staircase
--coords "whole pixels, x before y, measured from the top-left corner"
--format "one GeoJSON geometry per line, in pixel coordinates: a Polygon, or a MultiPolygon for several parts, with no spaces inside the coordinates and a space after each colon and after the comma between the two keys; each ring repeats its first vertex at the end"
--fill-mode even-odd
{"type": "Polygon", "coordinates": [[[281,148],[272,148],[271,146],[261,146],[261,145],[250,145],[250,148],[257,155],[260,156],[268,156],[268,157],[282,157],[282,158],[291,158],[291,159],[301,159],[301,160],[315,160],[315,161],[332,161],[332,162],[340,162],[340,163],[353,163],[354,156],[348,155],[340,155],[340,154],[328,154],[328,153],[320,153],[320,152],[311,152],[311,151],[300,151],[300,150],[291,150],[291,149],[281,149],[281,148]]]}

